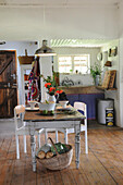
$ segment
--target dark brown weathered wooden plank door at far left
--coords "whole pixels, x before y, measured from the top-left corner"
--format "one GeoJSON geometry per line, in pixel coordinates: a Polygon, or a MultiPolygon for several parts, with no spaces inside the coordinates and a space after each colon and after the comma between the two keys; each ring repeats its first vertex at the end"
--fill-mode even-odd
{"type": "Polygon", "coordinates": [[[0,51],[0,119],[13,118],[17,104],[15,60],[15,51],[0,51]]]}

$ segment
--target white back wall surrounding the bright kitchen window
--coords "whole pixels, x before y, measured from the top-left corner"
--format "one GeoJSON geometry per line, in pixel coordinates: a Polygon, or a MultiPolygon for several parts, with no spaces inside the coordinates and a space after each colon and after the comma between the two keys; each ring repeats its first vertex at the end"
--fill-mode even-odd
{"type": "MultiPolygon", "coordinates": [[[[93,65],[97,61],[97,54],[100,51],[100,48],[82,48],[82,47],[59,47],[59,48],[53,48],[54,51],[57,52],[57,57],[54,57],[54,71],[58,72],[58,57],[59,55],[69,55],[69,54],[90,54],[90,65],[93,65]]],[[[71,74],[71,75],[65,75],[61,74],[60,75],[60,83],[65,78],[69,77],[69,79],[72,79],[76,85],[77,82],[81,81],[81,85],[93,85],[94,79],[90,75],[82,75],[82,74],[71,74]]]]}

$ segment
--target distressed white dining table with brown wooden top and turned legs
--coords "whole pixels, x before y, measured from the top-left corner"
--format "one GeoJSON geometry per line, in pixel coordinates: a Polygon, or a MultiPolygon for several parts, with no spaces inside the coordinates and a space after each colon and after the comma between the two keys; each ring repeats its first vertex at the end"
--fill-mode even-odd
{"type": "MultiPolygon", "coordinates": [[[[74,108],[72,108],[74,110],[74,108]]],[[[66,111],[54,111],[54,115],[41,115],[39,111],[25,111],[24,121],[30,135],[32,164],[33,171],[36,172],[36,143],[35,132],[40,128],[73,128],[75,131],[75,157],[76,169],[79,168],[81,150],[81,124],[85,116],[74,110],[74,114],[67,114],[66,111]]]]}

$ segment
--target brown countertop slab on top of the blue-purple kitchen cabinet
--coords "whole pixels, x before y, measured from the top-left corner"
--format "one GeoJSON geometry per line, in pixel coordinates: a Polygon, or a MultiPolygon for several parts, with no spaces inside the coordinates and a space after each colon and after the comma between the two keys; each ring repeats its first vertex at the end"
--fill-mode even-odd
{"type": "Polygon", "coordinates": [[[65,94],[103,94],[96,86],[59,86],[65,94]]]}

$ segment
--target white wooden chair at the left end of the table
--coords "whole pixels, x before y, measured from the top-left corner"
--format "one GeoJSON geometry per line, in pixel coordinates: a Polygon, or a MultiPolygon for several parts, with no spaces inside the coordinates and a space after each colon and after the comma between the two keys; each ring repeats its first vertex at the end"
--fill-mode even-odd
{"type": "MultiPolygon", "coordinates": [[[[14,124],[15,124],[15,140],[16,140],[16,159],[20,159],[20,143],[19,143],[19,136],[24,136],[24,152],[26,153],[26,135],[29,135],[28,128],[26,128],[26,122],[23,122],[25,113],[25,107],[16,106],[14,108],[14,124]]],[[[35,132],[35,135],[38,136],[38,147],[40,147],[40,134],[44,132],[44,130],[39,130],[35,132]]]]}

